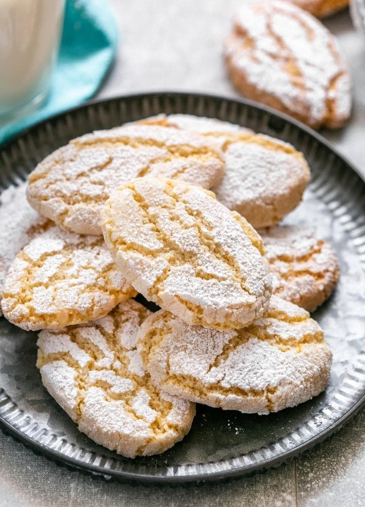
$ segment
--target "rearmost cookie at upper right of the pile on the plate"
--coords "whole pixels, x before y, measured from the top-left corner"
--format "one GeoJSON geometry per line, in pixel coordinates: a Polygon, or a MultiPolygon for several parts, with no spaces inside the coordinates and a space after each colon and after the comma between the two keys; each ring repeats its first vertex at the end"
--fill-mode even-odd
{"type": "Polygon", "coordinates": [[[160,115],[144,121],[214,136],[221,144],[226,170],[211,190],[254,228],[276,224],[302,200],[310,170],[291,144],[210,118],[160,115]]]}

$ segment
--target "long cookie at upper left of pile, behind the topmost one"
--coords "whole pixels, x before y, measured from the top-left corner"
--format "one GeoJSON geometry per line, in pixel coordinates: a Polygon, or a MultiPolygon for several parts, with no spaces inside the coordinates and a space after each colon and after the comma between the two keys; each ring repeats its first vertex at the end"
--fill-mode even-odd
{"type": "Polygon", "coordinates": [[[140,176],[184,179],[210,188],[222,177],[223,154],[200,135],[156,125],[86,134],[29,175],[30,204],[65,230],[101,235],[99,212],[112,190],[140,176]]]}

